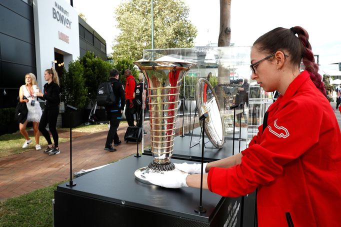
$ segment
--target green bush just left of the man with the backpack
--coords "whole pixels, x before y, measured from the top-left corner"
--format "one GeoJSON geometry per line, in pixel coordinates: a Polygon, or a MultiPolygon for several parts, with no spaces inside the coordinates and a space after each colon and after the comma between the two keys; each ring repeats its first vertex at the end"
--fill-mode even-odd
{"type": "Polygon", "coordinates": [[[79,62],[84,68],[83,77],[85,79],[85,86],[87,87],[88,98],[94,99],[98,85],[108,80],[112,65],[100,57],[95,57],[93,52],[90,51],[87,51],[79,59],[79,62]]]}

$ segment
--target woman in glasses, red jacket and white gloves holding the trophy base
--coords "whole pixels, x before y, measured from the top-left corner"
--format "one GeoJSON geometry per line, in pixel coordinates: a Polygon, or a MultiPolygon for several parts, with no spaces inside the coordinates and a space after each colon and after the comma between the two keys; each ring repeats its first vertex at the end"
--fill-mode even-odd
{"type": "MultiPolygon", "coordinates": [[[[341,133],[308,37],[299,26],[277,27],[253,43],[251,78],[281,95],[248,148],[204,164],[203,187],[212,192],[236,197],[258,188],[258,226],[340,225],[341,133]]],[[[152,182],[200,186],[199,164],[175,165],[190,174],[152,182]]]]}

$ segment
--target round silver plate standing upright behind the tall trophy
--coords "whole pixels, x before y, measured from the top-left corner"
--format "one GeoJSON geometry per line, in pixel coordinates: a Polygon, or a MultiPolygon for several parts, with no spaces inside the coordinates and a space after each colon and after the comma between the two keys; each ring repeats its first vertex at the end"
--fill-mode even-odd
{"type": "Polygon", "coordinates": [[[199,116],[208,113],[205,133],[214,147],[221,148],[225,142],[224,120],[214,89],[205,78],[199,78],[196,84],[196,106],[199,116]]]}

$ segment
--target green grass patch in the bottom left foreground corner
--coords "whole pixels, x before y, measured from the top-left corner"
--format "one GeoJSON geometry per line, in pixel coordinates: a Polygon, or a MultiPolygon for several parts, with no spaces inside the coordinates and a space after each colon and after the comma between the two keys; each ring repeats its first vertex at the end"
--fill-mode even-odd
{"type": "Polygon", "coordinates": [[[60,183],[0,201],[0,226],[52,226],[51,200],[60,183]]]}

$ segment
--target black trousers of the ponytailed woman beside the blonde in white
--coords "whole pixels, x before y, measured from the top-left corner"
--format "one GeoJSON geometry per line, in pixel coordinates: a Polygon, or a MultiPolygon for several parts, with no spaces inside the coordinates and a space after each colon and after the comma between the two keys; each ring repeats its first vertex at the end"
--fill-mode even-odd
{"type": "Polygon", "coordinates": [[[39,121],[39,131],[41,134],[45,137],[47,144],[52,144],[51,137],[46,130],[46,125],[48,123],[48,129],[52,134],[53,137],[53,142],[54,142],[54,147],[58,147],[58,132],[56,129],[56,124],[57,124],[57,117],[59,113],[59,107],[56,106],[54,108],[46,107],[44,108],[44,111],[42,112],[40,121],[39,121]]]}

